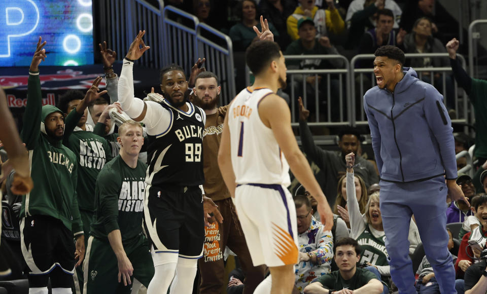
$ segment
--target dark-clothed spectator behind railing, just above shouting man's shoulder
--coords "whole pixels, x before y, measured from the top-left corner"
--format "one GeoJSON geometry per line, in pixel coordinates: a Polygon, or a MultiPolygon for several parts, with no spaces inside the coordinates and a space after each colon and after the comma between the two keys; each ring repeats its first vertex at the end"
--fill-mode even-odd
{"type": "MultiPolygon", "coordinates": [[[[446,53],[446,50],[441,44],[441,41],[433,38],[432,22],[427,17],[416,19],[412,31],[404,37],[403,42],[404,53],[446,53]]],[[[408,59],[407,66],[413,68],[418,67],[446,67],[448,66],[448,59],[432,58],[432,57],[418,57],[408,59]]],[[[448,108],[455,108],[455,88],[453,78],[451,75],[445,74],[445,90],[443,91],[443,76],[439,72],[420,72],[421,80],[431,84],[434,79],[435,88],[443,94],[444,100],[448,108]]]]}

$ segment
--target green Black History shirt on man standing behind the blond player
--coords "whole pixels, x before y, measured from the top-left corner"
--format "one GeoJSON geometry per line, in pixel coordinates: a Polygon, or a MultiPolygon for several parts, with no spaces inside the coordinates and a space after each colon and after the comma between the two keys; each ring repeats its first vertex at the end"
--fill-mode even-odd
{"type": "Polygon", "coordinates": [[[82,115],[73,109],[66,117],[63,143],[76,154],[78,163],[78,204],[80,210],[95,211],[95,182],[101,168],[112,159],[107,140],[77,127],[82,115]]]}

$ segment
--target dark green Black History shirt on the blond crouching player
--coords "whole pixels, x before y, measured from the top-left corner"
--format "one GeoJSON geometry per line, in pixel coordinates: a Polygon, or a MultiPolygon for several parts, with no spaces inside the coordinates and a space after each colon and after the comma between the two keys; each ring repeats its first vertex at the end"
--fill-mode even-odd
{"type": "Polygon", "coordinates": [[[91,235],[108,242],[108,234],[120,230],[122,243],[142,234],[147,165],[129,167],[118,155],[101,169],[96,179],[96,210],[91,235]]]}

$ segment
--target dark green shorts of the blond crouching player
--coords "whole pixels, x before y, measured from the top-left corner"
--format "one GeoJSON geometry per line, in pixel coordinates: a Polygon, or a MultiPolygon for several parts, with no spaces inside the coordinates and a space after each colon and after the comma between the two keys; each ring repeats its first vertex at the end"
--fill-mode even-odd
{"type": "MultiPolygon", "coordinates": [[[[148,287],[154,276],[154,263],[149,252],[149,245],[144,236],[123,244],[125,253],[132,263],[133,278],[148,287]]],[[[118,282],[118,261],[110,243],[91,236],[88,239],[86,257],[83,262],[84,294],[119,294],[128,293],[132,285],[123,285],[118,282]]]]}

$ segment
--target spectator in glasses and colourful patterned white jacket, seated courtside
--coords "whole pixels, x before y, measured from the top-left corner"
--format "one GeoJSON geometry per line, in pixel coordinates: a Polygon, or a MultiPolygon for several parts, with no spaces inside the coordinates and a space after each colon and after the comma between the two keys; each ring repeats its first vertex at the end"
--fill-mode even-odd
{"type": "Polygon", "coordinates": [[[333,237],[312,214],[308,198],[294,197],[298,224],[299,263],[296,265],[296,288],[302,292],[311,280],[331,272],[333,237]]]}

